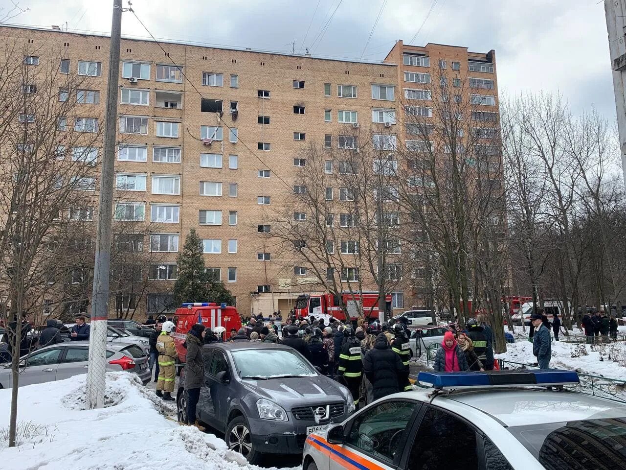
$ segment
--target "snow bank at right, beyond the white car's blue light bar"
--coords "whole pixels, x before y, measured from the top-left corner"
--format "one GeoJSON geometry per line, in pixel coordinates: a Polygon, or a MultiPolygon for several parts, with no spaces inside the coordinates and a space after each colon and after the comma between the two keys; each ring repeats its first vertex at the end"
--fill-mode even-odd
{"type": "MultiPolygon", "coordinates": [[[[533,343],[528,341],[507,344],[506,352],[496,354],[495,357],[525,364],[537,362],[533,355],[533,343]]],[[[626,380],[625,364],[626,345],[623,343],[570,345],[563,342],[552,342],[551,368],[576,370],[608,379],[626,380]]]]}

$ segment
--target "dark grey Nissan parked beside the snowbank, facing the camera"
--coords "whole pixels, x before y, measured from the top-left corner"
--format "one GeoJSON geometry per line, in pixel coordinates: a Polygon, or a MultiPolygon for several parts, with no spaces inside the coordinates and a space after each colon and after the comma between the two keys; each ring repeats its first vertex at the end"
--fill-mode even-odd
{"type": "MultiPolygon", "coordinates": [[[[300,353],[269,343],[203,347],[205,372],[198,420],[225,434],[229,449],[249,462],[262,454],[299,454],[307,435],[354,411],[349,390],[321,375],[300,353]]],[[[184,384],[183,369],[180,384],[184,384]]],[[[178,388],[179,419],[187,395],[178,388]]]]}

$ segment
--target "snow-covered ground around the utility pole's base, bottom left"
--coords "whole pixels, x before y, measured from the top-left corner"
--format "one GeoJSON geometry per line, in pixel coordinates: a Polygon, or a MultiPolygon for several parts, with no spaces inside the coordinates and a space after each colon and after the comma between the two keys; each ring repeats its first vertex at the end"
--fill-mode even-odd
{"type": "Polygon", "coordinates": [[[7,447],[11,390],[0,390],[0,468],[258,470],[225,442],[163,415],[135,374],[110,372],[107,406],[85,410],[86,375],[19,389],[18,447],[7,447]]]}

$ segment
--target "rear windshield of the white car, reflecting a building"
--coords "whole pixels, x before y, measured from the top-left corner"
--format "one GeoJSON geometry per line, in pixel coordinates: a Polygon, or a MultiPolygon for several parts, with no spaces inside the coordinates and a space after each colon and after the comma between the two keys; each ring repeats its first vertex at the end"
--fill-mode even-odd
{"type": "Polygon", "coordinates": [[[513,426],[508,430],[548,470],[626,468],[626,417],[513,426]]]}

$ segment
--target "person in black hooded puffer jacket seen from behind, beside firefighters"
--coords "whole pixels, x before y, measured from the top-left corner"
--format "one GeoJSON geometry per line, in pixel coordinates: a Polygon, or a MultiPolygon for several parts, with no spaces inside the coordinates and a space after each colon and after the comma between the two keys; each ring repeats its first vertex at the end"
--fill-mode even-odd
{"type": "Polygon", "coordinates": [[[374,400],[401,391],[400,379],[404,377],[404,364],[389,347],[385,333],[380,333],[374,348],[366,352],[363,372],[372,384],[374,400]]]}

